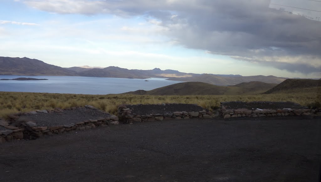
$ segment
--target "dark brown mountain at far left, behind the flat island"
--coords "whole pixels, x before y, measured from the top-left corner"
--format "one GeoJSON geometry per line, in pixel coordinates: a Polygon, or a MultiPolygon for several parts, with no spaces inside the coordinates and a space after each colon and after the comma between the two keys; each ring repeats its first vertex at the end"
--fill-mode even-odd
{"type": "Polygon", "coordinates": [[[0,75],[77,76],[77,73],[37,59],[0,57],[0,75]]]}

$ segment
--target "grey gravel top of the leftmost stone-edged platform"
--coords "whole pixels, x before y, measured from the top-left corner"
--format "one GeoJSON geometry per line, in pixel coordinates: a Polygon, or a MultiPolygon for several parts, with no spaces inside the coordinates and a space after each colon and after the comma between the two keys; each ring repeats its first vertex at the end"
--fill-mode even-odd
{"type": "Polygon", "coordinates": [[[106,114],[100,110],[80,107],[75,110],[64,110],[64,112],[61,113],[38,113],[22,116],[21,118],[35,121],[38,126],[59,126],[82,122],[83,120],[98,119],[100,117],[106,118],[108,116],[110,116],[110,114],[106,114]]]}

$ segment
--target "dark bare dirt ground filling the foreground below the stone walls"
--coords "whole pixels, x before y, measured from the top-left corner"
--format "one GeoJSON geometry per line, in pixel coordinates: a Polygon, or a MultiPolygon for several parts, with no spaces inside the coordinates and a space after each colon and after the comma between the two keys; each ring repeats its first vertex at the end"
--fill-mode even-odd
{"type": "Polygon", "coordinates": [[[319,181],[321,120],[168,120],[0,145],[0,181],[319,181]]]}

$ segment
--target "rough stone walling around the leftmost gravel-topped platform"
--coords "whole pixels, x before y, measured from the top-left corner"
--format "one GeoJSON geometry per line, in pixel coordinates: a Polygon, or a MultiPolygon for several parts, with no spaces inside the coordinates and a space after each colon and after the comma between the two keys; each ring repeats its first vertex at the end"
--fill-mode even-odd
{"type": "MultiPolygon", "coordinates": [[[[86,106],[91,109],[96,109],[93,106],[86,106]]],[[[69,108],[65,110],[73,110],[74,108],[69,108]]],[[[96,109],[98,110],[98,109],[96,109]]],[[[67,125],[59,126],[37,126],[36,122],[23,120],[20,116],[28,114],[36,114],[37,112],[64,112],[63,109],[53,109],[53,110],[41,110],[32,111],[29,113],[17,113],[9,116],[9,120],[0,119],[0,144],[11,140],[20,139],[37,139],[42,136],[51,136],[54,134],[60,134],[64,132],[69,132],[73,130],[85,130],[96,127],[107,127],[108,125],[117,125],[118,117],[115,115],[110,115],[106,118],[97,118],[95,120],[83,120],[77,123],[70,123],[67,125]]],[[[102,111],[101,111],[102,112],[102,111]]]]}

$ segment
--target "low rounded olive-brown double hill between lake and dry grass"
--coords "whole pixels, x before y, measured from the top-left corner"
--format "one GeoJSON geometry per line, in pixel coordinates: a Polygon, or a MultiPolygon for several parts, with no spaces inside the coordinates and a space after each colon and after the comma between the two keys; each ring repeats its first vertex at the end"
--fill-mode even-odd
{"type": "Polygon", "coordinates": [[[271,89],[277,84],[263,82],[241,83],[235,86],[216,86],[203,82],[184,82],[150,91],[137,90],[124,94],[132,95],[245,95],[259,94],[271,89]]]}

